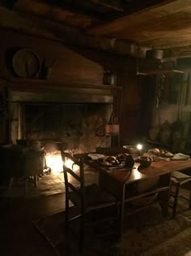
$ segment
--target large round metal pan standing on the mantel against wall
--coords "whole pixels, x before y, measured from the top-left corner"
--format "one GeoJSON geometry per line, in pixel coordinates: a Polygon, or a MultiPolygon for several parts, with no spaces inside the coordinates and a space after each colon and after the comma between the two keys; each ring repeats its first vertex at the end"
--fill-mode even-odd
{"type": "Polygon", "coordinates": [[[29,49],[18,50],[12,59],[12,66],[17,76],[21,78],[38,78],[40,74],[40,59],[29,49]]]}

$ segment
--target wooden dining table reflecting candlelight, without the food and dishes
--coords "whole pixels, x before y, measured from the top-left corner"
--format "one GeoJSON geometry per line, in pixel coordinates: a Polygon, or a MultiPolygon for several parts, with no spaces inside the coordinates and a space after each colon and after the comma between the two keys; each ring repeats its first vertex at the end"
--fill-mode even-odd
{"type": "MultiPolygon", "coordinates": [[[[120,202],[119,236],[122,236],[123,232],[126,202],[133,202],[138,198],[146,198],[150,195],[157,194],[155,202],[159,202],[163,216],[167,216],[171,174],[173,171],[183,171],[191,168],[191,158],[188,160],[176,161],[159,159],[159,161],[152,162],[150,167],[143,168],[140,167],[140,163],[134,163],[133,168],[119,169],[104,167],[87,156],[88,154],[75,154],[76,158],[83,158],[84,163],[99,171],[100,186],[114,194],[117,197],[118,202],[120,202]],[[141,184],[141,182],[146,182],[146,180],[149,181],[154,177],[158,177],[158,182],[153,188],[133,195],[127,193],[131,184],[141,184]]],[[[141,208],[142,206],[134,207],[134,211],[140,210],[141,208]]],[[[133,213],[133,211],[129,213],[133,213]]]]}

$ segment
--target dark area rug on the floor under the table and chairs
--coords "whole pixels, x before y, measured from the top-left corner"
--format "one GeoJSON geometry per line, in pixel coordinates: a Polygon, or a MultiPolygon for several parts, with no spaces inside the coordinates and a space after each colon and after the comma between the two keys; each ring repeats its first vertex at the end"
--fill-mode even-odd
{"type": "MultiPolygon", "coordinates": [[[[100,219],[104,218],[100,215],[100,219]]],[[[64,236],[64,211],[34,224],[59,256],[183,256],[191,250],[191,210],[176,219],[163,219],[155,205],[126,217],[121,241],[117,241],[115,221],[95,222],[86,229],[83,254],[72,234],[64,236]]]]}

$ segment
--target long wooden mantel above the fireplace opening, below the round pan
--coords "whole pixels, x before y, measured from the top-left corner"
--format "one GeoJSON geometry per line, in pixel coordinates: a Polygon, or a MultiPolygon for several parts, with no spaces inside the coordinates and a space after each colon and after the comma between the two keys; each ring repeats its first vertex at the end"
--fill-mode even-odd
{"type": "Polygon", "coordinates": [[[91,102],[112,103],[120,86],[55,83],[39,79],[2,79],[10,91],[11,102],[91,102]]]}

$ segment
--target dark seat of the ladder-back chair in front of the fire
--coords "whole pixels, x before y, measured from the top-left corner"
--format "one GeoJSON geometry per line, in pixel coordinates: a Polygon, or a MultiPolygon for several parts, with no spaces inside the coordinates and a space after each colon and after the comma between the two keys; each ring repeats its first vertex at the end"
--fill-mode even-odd
{"type": "MultiPolygon", "coordinates": [[[[86,193],[86,211],[92,209],[103,208],[104,206],[112,206],[117,203],[117,198],[113,197],[106,190],[101,189],[97,184],[90,184],[85,187],[86,193]]],[[[69,199],[75,206],[81,206],[81,198],[79,196],[80,190],[71,191],[69,193],[69,199]]]]}

